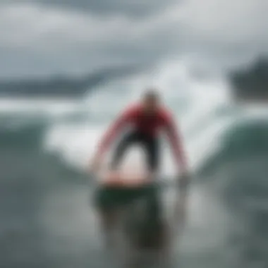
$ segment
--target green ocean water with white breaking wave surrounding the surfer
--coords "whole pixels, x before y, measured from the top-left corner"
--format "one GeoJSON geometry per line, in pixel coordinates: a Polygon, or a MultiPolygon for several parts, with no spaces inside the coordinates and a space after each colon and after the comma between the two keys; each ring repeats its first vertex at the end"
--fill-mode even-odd
{"type": "MultiPolygon", "coordinates": [[[[1,267],[111,267],[87,165],[112,118],[148,85],[176,114],[195,173],[173,266],[267,267],[267,109],[238,106],[224,74],[198,79],[184,61],[112,80],[81,99],[0,99],[1,267]]],[[[162,158],[163,178],[172,180],[164,141],[162,158]]],[[[142,169],[141,152],[124,164],[142,169]]],[[[166,190],[168,214],[172,199],[166,190]]]]}

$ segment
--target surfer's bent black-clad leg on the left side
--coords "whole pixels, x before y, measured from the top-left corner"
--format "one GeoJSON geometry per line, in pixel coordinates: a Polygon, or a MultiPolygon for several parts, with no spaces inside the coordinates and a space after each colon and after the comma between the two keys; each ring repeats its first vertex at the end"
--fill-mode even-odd
{"type": "Polygon", "coordinates": [[[110,167],[112,170],[116,170],[118,168],[118,165],[123,159],[123,156],[126,153],[128,147],[130,147],[130,145],[132,145],[133,142],[138,141],[138,139],[139,137],[137,133],[128,133],[120,140],[120,142],[116,146],[116,149],[114,150],[114,155],[111,159],[110,167]]]}

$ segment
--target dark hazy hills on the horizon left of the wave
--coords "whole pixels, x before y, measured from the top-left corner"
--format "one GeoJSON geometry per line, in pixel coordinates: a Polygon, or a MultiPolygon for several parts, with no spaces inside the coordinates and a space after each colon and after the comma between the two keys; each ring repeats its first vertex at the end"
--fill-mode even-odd
{"type": "Polygon", "coordinates": [[[80,77],[56,76],[52,78],[29,78],[24,80],[0,81],[0,97],[28,98],[79,98],[94,90],[99,84],[109,80],[131,75],[138,66],[103,68],[102,70],[80,77]]]}

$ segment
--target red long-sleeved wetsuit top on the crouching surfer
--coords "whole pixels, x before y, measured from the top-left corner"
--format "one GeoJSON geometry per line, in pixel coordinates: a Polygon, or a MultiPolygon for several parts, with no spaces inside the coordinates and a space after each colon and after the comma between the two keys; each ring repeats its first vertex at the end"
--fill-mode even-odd
{"type": "Polygon", "coordinates": [[[99,145],[100,154],[103,154],[108,149],[116,135],[126,126],[133,126],[134,130],[152,138],[158,135],[159,130],[165,130],[171,142],[176,164],[181,164],[183,168],[186,167],[182,141],[178,135],[176,124],[171,113],[164,107],[159,108],[153,116],[148,116],[144,113],[140,104],[129,106],[106,131],[99,145]]]}

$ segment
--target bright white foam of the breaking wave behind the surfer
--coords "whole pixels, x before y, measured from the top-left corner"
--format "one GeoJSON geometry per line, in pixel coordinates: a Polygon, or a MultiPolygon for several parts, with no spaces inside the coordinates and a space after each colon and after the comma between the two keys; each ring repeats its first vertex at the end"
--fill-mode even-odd
{"type": "MultiPolygon", "coordinates": [[[[229,125],[230,118],[215,116],[219,107],[229,104],[229,88],[222,78],[197,81],[190,73],[185,63],[172,61],[163,63],[153,73],[100,87],[81,104],[91,116],[94,114],[95,123],[53,126],[47,133],[47,148],[61,154],[70,164],[85,167],[111,118],[137,99],[145,87],[157,85],[176,114],[190,165],[196,166],[209,150],[217,147],[221,131],[229,125]]],[[[162,158],[163,173],[173,174],[175,169],[167,147],[162,158]]]]}

